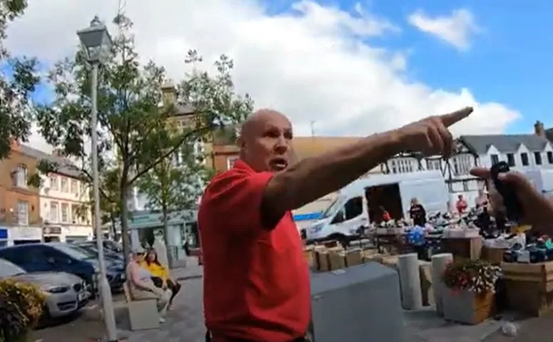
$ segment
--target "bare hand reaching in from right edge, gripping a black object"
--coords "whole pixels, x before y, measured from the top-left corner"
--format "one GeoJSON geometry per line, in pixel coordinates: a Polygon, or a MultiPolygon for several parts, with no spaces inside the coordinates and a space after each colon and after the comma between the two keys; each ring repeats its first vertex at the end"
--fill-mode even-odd
{"type": "MultiPolygon", "coordinates": [[[[491,186],[491,175],[489,169],[476,167],[470,171],[475,177],[480,177],[489,182],[489,212],[496,216],[501,214],[504,217],[505,208],[501,195],[491,186]]],[[[532,226],[533,229],[540,229],[542,234],[553,235],[553,199],[545,197],[538,192],[527,177],[516,171],[510,171],[499,175],[499,180],[511,185],[519,197],[522,205],[523,217],[519,224],[532,226]]]]}

